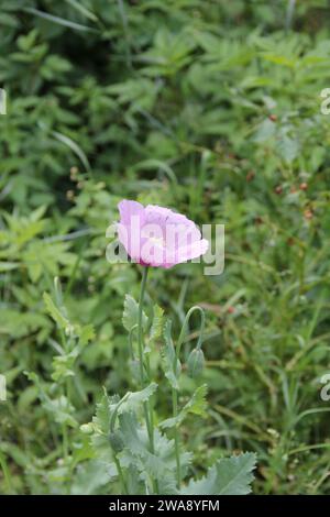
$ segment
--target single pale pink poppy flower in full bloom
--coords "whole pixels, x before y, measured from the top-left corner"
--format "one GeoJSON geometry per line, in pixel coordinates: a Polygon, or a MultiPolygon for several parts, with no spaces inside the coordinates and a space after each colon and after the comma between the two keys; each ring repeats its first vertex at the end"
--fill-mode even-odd
{"type": "Polygon", "coordinates": [[[122,200],[118,205],[118,235],[133,262],[144,266],[173,267],[198,258],[209,246],[195,222],[168,208],[122,200]]]}

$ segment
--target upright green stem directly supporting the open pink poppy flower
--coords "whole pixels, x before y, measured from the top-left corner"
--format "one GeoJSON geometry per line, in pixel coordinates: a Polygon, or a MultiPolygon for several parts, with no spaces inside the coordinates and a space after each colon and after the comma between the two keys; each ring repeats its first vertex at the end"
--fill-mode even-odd
{"type": "MultiPolygon", "coordinates": [[[[148,267],[143,267],[142,273],[142,283],[141,283],[141,290],[140,290],[140,298],[139,298],[139,314],[138,314],[138,344],[139,344],[139,361],[140,361],[140,377],[141,377],[141,386],[142,388],[145,387],[145,375],[144,375],[144,343],[143,343],[143,301],[144,301],[144,294],[145,294],[145,286],[146,286],[146,278],[147,278],[148,267]]],[[[146,360],[146,374],[150,381],[151,371],[150,371],[150,363],[148,358],[146,360]]],[[[154,446],[154,417],[153,417],[153,407],[152,404],[144,403],[144,418],[147,428],[148,441],[150,441],[150,450],[151,453],[155,453],[155,446],[154,446]]],[[[158,483],[155,480],[154,482],[154,491],[158,494],[158,483]]]]}

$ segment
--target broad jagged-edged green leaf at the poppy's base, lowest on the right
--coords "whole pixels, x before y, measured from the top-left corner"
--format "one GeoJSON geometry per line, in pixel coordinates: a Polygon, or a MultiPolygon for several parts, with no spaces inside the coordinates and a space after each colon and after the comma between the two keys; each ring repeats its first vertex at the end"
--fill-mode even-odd
{"type": "Polygon", "coordinates": [[[256,455],[245,452],[224,458],[211,466],[206,476],[190,481],[182,491],[184,495],[245,495],[251,492],[252,471],[256,455]]]}

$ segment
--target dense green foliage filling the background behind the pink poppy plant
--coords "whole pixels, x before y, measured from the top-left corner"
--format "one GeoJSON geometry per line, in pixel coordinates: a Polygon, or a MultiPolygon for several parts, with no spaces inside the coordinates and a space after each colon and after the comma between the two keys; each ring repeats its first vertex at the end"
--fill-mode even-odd
{"type": "Polygon", "coordinates": [[[255,493],[329,493],[329,14],[326,0],[0,0],[0,493],[109,493],[82,425],[102,386],[134,385],[122,311],[140,271],[106,261],[122,198],[226,224],[222,275],[185,264],[147,287],[176,332],[206,309],[194,476],[253,451],[255,493]]]}

